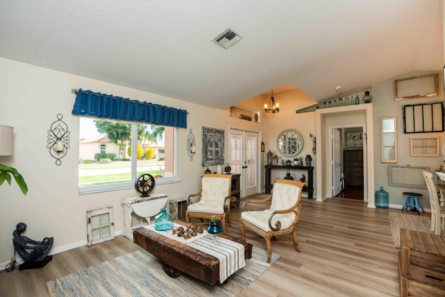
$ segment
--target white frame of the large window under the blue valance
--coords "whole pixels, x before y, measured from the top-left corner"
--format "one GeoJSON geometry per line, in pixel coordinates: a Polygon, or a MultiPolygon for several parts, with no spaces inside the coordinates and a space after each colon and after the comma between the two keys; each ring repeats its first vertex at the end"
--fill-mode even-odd
{"type": "MultiPolygon", "coordinates": [[[[79,117],[79,125],[80,125],[80,118],[92,118],[97,120],[104,120],[104,118],[96,118],[96,117],[85,117],[81,116],[79,117]]],[[[111,119],[105,119],[105,120],[111,120],[111,119]]],[[[119,120],[121,122],[129,122],[131,124],[131,147],[138,147],[138,125],[154,125],[149,124],[147,122],[133,122],[133,121],[123,121],[119,120]]],[[[155,126],[163,126],[163,125],[155,125],[155,126]]],[[[168,127],[168,126],[163,126],[168,127]]],[[[172,177],[159,177],[156,178],[156,185],[159,184],[172,184],[175,182],[181,182],[181,176],[180,176],[180,139],[181,139],[181,132],[179,127],[172,127],[173,128],[173,170],[175,172],[175,175],[172,177]]],[[[80,143],[80,141],[79,141],[80,143]]],[[[78,143],[78,145],[79,145],[78,143]]],[[[116,184],[102,184],[97,186],[79,186],[79,170],[77,172],[77,179],[78,184],[77,187],[79,188],[79,195],[85,195],[90,193],[100,193],[100,192],[108,192],[108,191],[119,191],[119,190],[125,190],[128,188],[134,188],[134,182],[136,181],[136,173],[138,168],[138,159],[137,158],[131,158],[131,181],[130,182],[120,182],[116,184]]]]}

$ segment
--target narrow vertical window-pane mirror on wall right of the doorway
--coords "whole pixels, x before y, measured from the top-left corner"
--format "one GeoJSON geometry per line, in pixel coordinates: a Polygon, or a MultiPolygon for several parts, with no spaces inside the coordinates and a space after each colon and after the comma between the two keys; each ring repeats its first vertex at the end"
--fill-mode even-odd
{"type": "Polygon", "coordinates": [[[397,163],[396,118],[382,118],[382,163],[397,163]]]}

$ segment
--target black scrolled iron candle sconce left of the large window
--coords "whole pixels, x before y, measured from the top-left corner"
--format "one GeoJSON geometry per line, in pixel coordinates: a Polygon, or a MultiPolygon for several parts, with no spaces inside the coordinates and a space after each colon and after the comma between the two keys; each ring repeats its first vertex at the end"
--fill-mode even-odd
{"type": "Polygon", "coordinates": [[[63,115],[57,114],[56,122],[51,124],[51,129],[48,130],[47,149],[49,154],[56,159],[56,165],[60,165],[62,159],[70,148],[70,131],[68,126],[62,120],[63,115]]]}

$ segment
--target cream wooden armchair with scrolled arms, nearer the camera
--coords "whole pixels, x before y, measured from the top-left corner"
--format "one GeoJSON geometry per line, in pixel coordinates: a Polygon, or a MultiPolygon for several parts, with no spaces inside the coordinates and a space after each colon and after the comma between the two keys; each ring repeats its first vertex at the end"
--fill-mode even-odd
{"type": "Polygon", "coordinates": [[[293,245],[301,252],[297,240],[297,223],[300,218],[301,192],[306,183],[289,179],[275,179],[272,194],[264,200],[250,200],[241,209],[241,236],[245,238],[244,227],[256,232],[266,239],[268,250],[267,262],[272,257],[270,239],[275,235],[293,234],[293,245]],[[270,202],[264,211],[244,211],[249,203],[262,204],[270,202]]]}

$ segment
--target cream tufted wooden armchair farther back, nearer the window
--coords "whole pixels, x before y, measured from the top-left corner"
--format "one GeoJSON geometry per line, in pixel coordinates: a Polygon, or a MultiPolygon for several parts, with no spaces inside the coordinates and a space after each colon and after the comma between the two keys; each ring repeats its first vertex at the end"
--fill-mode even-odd
{"type": "Polygon", "coordinates": [[[232,175],[204,174],[201,178],[200,191],[187,198],[186,221],[190,218],[207,218],[212,216],[221,220],[225,233],[225,222],[230,225],[230,193],[232,192],[232,175]],[[200,195],[200,201],[191,203],[190,198],[200,195]]]}

